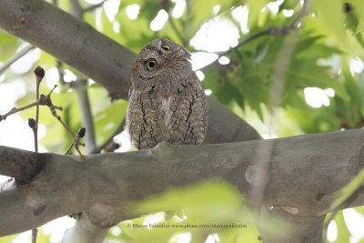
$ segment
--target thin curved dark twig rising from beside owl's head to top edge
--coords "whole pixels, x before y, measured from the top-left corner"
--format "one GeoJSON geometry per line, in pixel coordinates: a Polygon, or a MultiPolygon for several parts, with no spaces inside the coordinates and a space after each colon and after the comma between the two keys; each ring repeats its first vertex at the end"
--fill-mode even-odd
{"type": "Polygon", "coordinates": [[[238,46],[235,46],[234,48],[230,48],[228,49],[226,52],[223,52],[222,54],[220,54],[217,59],[215,61],[213,61],[212,63],[208,64],[207,66],[203,66],[201,67],[200,71],[202,70],[206,70],[212,66],[215,66],[218,62],[218,59],[221,56],[227,56],[229,55],[231,52],[238,50],[241,46],[246,45],[248,42],[257,39],[260,36],[263,35],[288,35],[290,31],[295,30],[298,28],[298,23],[299,21],[301,21],[301,19],[308,15],[308,10],[309,10],[309,5],[310,5],[310,0],[305,0],[303,5],[302,5],[302,9],[301,11],[298,13],[298,15],[292,20],[292,22],[289,25],[284,25],[282,27],[268,27],[268,29],[262,30],[257,32],[254,35],[250,35],[247,38],[245,38],[244,40],[242,40],[241,42],[238,43],[238,46]]]}

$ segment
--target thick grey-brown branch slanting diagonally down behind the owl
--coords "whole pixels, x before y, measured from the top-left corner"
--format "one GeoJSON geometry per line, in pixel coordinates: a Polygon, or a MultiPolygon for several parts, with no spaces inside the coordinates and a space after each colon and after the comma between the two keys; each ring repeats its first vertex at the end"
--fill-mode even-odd
{"type": "MultiPolygon", "coordinates": [[[[43,0],[31,4],[26,0],[0,1],[0,28],[75,67],[104,86],[112,98],[128,98],[130,66],[136,54],[75,16],[43,0]]],[[[207,143],[260,138],[227,107],[212,98],[209,106],[207,143]]]]}

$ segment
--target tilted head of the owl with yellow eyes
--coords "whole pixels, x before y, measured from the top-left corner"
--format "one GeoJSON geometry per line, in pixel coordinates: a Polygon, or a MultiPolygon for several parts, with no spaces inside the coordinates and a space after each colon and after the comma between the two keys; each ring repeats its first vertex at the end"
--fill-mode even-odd
{"type": "Polygon", "coordinates": [[[131,82],[151,80],[166,72],[191,70],[190,54],[183,46],[168,39],[155,39],[136,56],[131,70],[131,82]]]}

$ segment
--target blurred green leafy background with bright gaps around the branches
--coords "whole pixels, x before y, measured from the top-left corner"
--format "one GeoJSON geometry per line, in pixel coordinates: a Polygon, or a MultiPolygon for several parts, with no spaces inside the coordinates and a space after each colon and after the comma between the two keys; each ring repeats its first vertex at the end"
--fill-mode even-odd
{"type": "MultiPolygon", "coordinates": [[[[73,0],[48,2],[71,12],[70,1],[73,0]]],[[[262,35],[240,48],[235,46],[250,35],[269,27],[289,25],[299,14],[302,1],[79,0],[79,4],[89,8],[83,15],[88,24],[135,52],[157,37],[167,37],[186,46],[192,53],[194,68],[202,68],[198,76],[203,79],[207,95],[247,120],[265,138],[364,127],[364,2],[361,0],[312,1],[298,31],[290,31],[288,35],[262,35]],[[227,35],[227,31],[231,35],[227,35]],[[281,65],[279,56],[294,33],[297,41],[293,44],[292,55],[286,56],[289,62],[281,79],[279,102],[272,104],[271,97],[277,95],[272,84],[281,65]],[[227,56],[221,57],[213,66],[203,68],[230,48],[227,56]]],[[[0,32],[0,61],[5,64],[25,46],[23,41],[0,32]]],[[[75,132],[82,126],[82,121],[72,81],[86,79],[97,145],[113,133],[126,115],[126,101],[111,102],[106,91],[93,80],[70,66],[59,64],[53,56],[38,49],[30,51],[0,74],[0,114],[7,112],[14,103],[24,106],[35,101],[32,72],[35,66],[43,66],[46,71],[42,93],[48,93],[55,84],[59,86],[52,100],[64,108],[58,114],[75,132]],[[62,79],[65,82],[59,81],[62,79]]],[[[26,121],[34,114],[35,109],[28,109],[20,115],[26,121]]],[[[64,153],[72,139],[46,107],[41,108],[40,123],[44,125],[40,141],[43,150],[64,153]]],[[[2,127],[3,133],[4,127],[6,130],[20,129],[11,128],[6,121],[0,124],[2,127]]],[[[125,136],[117,140],[122,146],[119,151],[129,149],[126,140],[125,136]]],[[[259,242],[255,217],[245,208],[244,197],[224,182],[173,189],[136,205],[134,209],[145,214],[166,208],[172,212],[183,208],[187,211],[179,216],[178,213],[173,216],[157,213],[120,223],[110,230],[107,241],[259,242]],[[237,221],[248,224],[248,228],[127,228],[130,223],[167,220],[164,222],[185,224],[202,218],[223,223],[232,215],[237,221]]],[[[328,242],[364,242],[363,234],[350,228],[349,217],[345,214],[344,210],[329,218],[331,236],[328,242]]],[[[349,214],[364,225],[363,208],[351,208],[347,211],[349,214]]],[[[269,228],[276,223],[268,222],[267,226],[260,227],[269,228]]],[[[19,237],[0,238],[0,242],[10,242],[13,238],[19,237]]],[[[38,237],[38,242],[49,240],[49,235],[42,233],[38,237]]]]}

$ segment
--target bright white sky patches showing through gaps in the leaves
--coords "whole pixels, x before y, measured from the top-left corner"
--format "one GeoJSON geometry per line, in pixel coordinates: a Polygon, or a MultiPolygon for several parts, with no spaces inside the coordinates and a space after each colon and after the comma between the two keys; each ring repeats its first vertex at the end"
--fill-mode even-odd
{"type": "MultiPolygon", "coordinates": [[[[90,4],[98,4],[102,2],[102,0],[86,0],[86,2],[90,4]]],[[[172,12],[172,17],[179,18],[186,7],[185,0],[172,0],[172,2],[176,3],[176,6],[172,12]]],[[[283,0],[278,0],[275,3],[269,3],[267,7],[263,11],[270,11],[273,14],[278,13],[278,6],[283,3],[283,0]]],[[[110,22],[114,25],[114,31],[118,33],[120,28],[120,23],[115,20],[115,15],[117,14],[118,8],[120,5],[120,0],[109,0],[107,1],[103,7],[96,9],[96,26],[100,26],[101,15],[103,11],[105,11],[106,16],[110,22]]],[[[220,9],[219,5],[216,5],[213,9],[213,13],[215,15],[218,14],[220,9]]],[[[139,5],[128,5],[126,6],[126,15],[130,19],[136,19],[139,14],[140,6],[139,5]]],[[[285,10],[284,14],[287,16],[293,15],[293,10],[285,10]]],[[[232,15],[236,21],[240,24],[240,28],[242,33],[248,34],[248,8],[238,7],[232,11],[232,15]]],[[[156,18],[151,22],[150,28],[154,31],[160,30],[167,22],[168,17],[171,17],[167,14],[165,10],[160,10],[156,16],[156,18]]],[[[190,45],[194,46],[197,50],[197,53],[192,53],[192,66],[194,70],[202,66],[206,66],[207,64],[213,62],[217,59],[217,55],[207,53],[207,52],[220,52],[226,51],[230,47],[234,47],[238,45],[238,39],[240,38],[238,28],[233,25],[230,20],[222,18],[220,16],[216,16],[207,23],[203,24],[200,29],[197,31],[197,34],[194,38],[191,39],[190,45]]],[[[19,47],[18,51],[24,48],[26,45],[22,45],[19,47]]],[[[41,51],[39,49],[35,49],[30,51],[27,55],[20,58],[15,64],[13,64],[10,68],[11,71],[15,74],[21,75],[25,72],[28,72],[30,69],[34,68],[35,62],[40,58],[41,51]]],[[[335,56],[332,57],[332,60],[322,60],[322,64],[330,62],[330,64],[337,62],[335,60],[335,56]]],[[[222,65],[227,65],[229,63],[229,59],[227,57],[222,57],[219,60],[219,63],[222,65]]],[[[0,63],[0,66],[2,64],[0,63]]],[[[339,66],[339,64],[337,64],[339,66]]],[[[350,61],[350,71],[352,74],[360,73],[363,70],[363,62],[357,57],[350,61]]],[[[339,70],[338,70],[339,71],[339,70]]],[[[203,80],[204,75],[202,72],[198,71],[197,76],[200,80],[203,80]]],[[[76,76],[66,70],[66,81],[75,80],[76,76]]],[[[9,111],[13,106],[15,106],[15,102],[22,96],[25,96],[25,85],[24,80],[21,78],[12,81],[11,83],[4,83],[5,75],[0,76],[0,114],[4,114],[9,111]]],[[[58,81],[58,74],[56,71],[56,67],[46,70],[45,74],[46,85],[52,88],[56,82],[58,81]]],[[[57,90],[56,90],[57,92],[57,90]]],[[[206,90],[206,94],[210,95],[211,90],[206,90]]],[[[333,89],[321,89],[318,87],[307,87],[304,90],[306,102],[309,106],[317,107],[320,106],[329,106],[329,97],[335,96],[335,92],[333,89]]],[[[46,127],[40,125],[39,127],[39,139],[45,136],[46,127]]],[[[126,151],[130,147],[129,139],[126,134],[126,131],[121,135],[116,137],[117,142],[122,142],[122,147],[117,151],[122,152],[126,151]]],[[[13,115],[9,116],[5,121],[0,123],[0,145],[5,145],[8,147],[18,147],[27,150],[33,150],[33,133],[31,129],[27,126],[27,121],[23,120],[21,116],[13,115]],[[21,139],[19,139],[21,137],[21,139]]],[[[40,145],[40,152],[45,152],[46,149],[42,145],[40,145]]],[[[2,185],[1,181],[5,181],[8,177],[0,176],[0,185],[2,185]]],[[[358,226],[364,225],[364,218],[356,213],[353,209],[344,210],[344,218],[347,221],[348,228],[353,235],[350,243],[358,242],[360,238],[364,236],[364,232],[358,226]]],[[[150,221],[159,221],[162,220],[161,216],[153,216],[152,218],[147,218],[146,220],[150,221]]],[[[52,233],[51,242],[60,241],[63,237],[63,234],[66,228],[72,227],[74,223],[74,219],[63,217],[58,218],[52,222],[45,224],[43,227],[44,234],[52,233]]],[[[121,233],[120,228],[115,228],[113,230],[115,235],[121,233]]],[[[27,231],[23,234],[20,234],[18,238],[13,240],[14,243],[26,243],[30,242],[29,236],[31,235],[30,231],[27,231]]],[[[191,240],[190,233],[179,234],[177,236],[177,242],[189,242],[191,240]]],[[[329,240],[334,241],[337,238],[337,226],[334,221],[331,221],[329,224],[329,240]]],[[[218,236],[209,235],[206,243],[218,242],[218,236]]]]}

